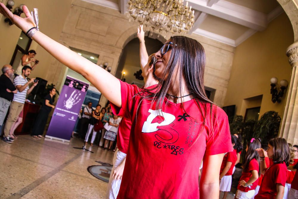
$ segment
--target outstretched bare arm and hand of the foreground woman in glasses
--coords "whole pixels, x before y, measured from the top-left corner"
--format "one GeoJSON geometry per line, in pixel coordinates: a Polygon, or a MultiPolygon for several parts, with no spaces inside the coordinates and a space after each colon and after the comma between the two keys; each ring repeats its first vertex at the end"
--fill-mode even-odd
{"type": "MultiPolygon", "coordinates": [[[[26,18],[13,15],[13,13],[10,12],[3,3],[0,3],[0,13],[5,17],[10,18],[17,27],[26,33],[30,28],[35,27],[36,25],[34,24],[32,16],[26,6],[23,6],[23,11],[26,18]]],[[[39,31],[32,36],[32,39],[62,64],[83,75],[109,101],[116,106],[121,107],[120,82],[108,71],[83,58],[39,31]],[[108,84],[106,84],[107,81],[109,82],[108,84]]]]}

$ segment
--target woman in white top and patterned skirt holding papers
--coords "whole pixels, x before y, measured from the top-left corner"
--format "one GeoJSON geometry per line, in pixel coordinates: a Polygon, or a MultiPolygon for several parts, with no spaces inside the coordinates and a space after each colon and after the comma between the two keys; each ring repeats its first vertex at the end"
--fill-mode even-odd
{"type": "Polygon", "coordinates": [[[116,135],[118,132],[118,127],[121,119],[118,115],[114,115],[113,118],[109,119],[109,125],[111,128],[107,131],[105,131],[105,135],[103,138],[105,138],[105,144],[103,145],[103,149],[106,149],[105,146],[108,144],[108,151],[111,151],[111,147],[113,145],[113,142],[116,140],[116,135]]]}

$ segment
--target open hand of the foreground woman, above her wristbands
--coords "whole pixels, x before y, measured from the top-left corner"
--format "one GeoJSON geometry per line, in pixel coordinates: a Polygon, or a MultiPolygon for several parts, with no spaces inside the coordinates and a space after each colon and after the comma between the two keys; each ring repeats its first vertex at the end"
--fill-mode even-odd
{"type": "Polygon", "coordinates": [[[0,13],[9,18],[10,21],[26,33],[30,28],[35,27],[36,24],[25,5],[23,6],[23,12],[26,16],[25,18],[14,15],[3,3],[0,3],[0,13]]]}

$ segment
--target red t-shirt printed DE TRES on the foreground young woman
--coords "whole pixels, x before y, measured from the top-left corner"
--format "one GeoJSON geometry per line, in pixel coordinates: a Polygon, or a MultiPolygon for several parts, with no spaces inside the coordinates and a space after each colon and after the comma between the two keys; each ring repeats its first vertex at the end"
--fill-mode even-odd
{"type": "Polygon", "coordinates": [[[132,125],[117,198],[199,198],[203,156],[232,151],[226,113],[213,106],[210,116],[210,105],[199,103],[199,107],[195,100],[183,103],[185,112],[181,104],[166,98],[160,112],[154,110],[155,102],[151,107],[151,100],[133,97],[141,91],[136,85],[120,84],[123,111],[111,107],[132,125]],[[206,115],[204,127],[202,115],[206,115]]]}

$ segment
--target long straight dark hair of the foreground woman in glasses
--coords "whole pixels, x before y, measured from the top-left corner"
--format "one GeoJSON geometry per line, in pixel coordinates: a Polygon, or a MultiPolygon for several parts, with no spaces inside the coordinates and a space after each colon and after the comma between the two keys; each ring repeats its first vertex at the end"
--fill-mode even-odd
{"type": "MultiPolygon", "coordinates": [[[[188,38],[185,36],[173,36],[170,38],[170,41],[173,42],[173,48],[171,50],[169,62],[163,74],[161,75],[161,80],[155,88],[144,89],[136,95],[142,97],[142,100],[150,99],[154,101],[155,109],[162,111],[164,107],[167,106],[167,104],[169,103],[169,101],[167,101],[165,106],[163,107],[164,98],[166,97],[167,92],[171,87],[172,80],[174,79],[174,81],[177,81],[179,79],[179,82],[182,82],[182,79],[184,78],[187,90],[183,90],[182,84],[180,84],[180,96],[183,95],[182,93],[184,91],[188,91],[193,99],[195,99],[195,102],[203,117],[203,125],[201,125],[199,134],[194,141],[195,143],[205,126],[207,106],[210,106],[211,134],[213,133],[214,128],[216,128],[216,124],[218,124],[215,114],[216,106],[214,106],[214,111],[212,111],[212,107],[215,104],[208,99],[204,87],[204,70],[206,62],[205,51],[203,46],[198,41],[192,38],[188,38]],[[179,77],[177,77],[177,75],[174,76],[175,70],[177,68],[178,71],[180,71],[179,77]],[[214,124],[214,121],[212,121],[212,117],[214,118],[213,120],[216,121],[216,124],[214,124]]],[[[182,102],[184,102],[183,98],[181,100],[182,102]]],[[[141,104],[141,101],[139,105],[141,104]]],[[[184,109],[183,103],[181,103],[181,106],[184,112],[187,114],[184,109]]],[[[151,103],[151,108],[152,107],[153,103],[151,103]]],[[[194,115],[189,116],[190,118],[194,118],[194,115]]]]}

